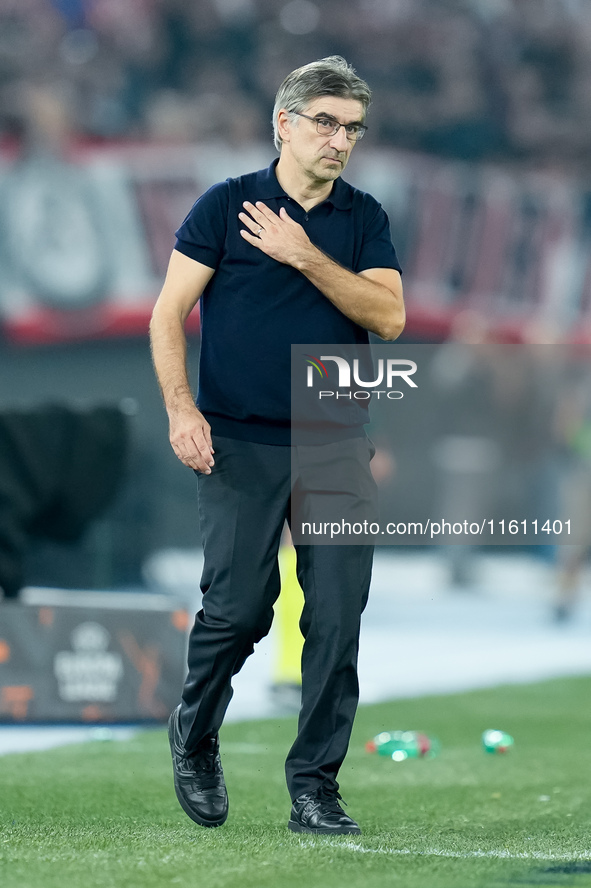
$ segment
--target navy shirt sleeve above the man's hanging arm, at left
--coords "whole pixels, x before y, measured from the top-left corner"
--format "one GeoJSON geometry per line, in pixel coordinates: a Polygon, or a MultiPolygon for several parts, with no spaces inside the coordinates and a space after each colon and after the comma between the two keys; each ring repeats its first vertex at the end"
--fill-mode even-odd
{"type": "Polygon", "coordinates": [[[226,182],[214,185],[202,194],[175,232],[175,250],[208,268],[217,268],[226,241],[228,206],[226,182]]]}

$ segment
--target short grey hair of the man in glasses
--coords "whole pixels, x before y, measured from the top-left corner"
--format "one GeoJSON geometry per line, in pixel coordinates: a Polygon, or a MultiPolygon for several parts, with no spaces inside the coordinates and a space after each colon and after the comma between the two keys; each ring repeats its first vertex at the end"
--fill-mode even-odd
{"type": "Polygon", "coordinates": [[[286,108],[288,111],[303,111],[313,99],[322,96],[361,102],[364,118],[371,103],[369,86],[357,76],[355,69],[342,56],[328,56],[296,68],[287,75],[275,96],[273,136],[277,151],[281,151],[277,124],[280,110],[286,108]]]}

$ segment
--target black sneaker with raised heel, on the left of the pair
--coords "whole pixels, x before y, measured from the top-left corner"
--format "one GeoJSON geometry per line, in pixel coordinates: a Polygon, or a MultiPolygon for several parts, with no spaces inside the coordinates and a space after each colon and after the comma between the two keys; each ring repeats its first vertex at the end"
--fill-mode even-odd
{"type": "Polygon", "coordinates": [[[174,788],[183,811],[201,826],[221,826],[228,816],[228,793],[217,737],[187,753],[179,728],[180,705],[168,720],[174,788]]]}

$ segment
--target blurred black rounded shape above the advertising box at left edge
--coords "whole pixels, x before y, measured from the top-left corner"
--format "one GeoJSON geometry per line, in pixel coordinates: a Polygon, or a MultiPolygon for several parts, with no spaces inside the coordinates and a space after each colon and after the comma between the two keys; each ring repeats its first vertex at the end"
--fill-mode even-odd
{"type": "Polygon", "coordinates": [[[117,405],[0,413],[0,594],[18,596],[31,538],[76,542],[112,502],[128,438],[117,405]]]}

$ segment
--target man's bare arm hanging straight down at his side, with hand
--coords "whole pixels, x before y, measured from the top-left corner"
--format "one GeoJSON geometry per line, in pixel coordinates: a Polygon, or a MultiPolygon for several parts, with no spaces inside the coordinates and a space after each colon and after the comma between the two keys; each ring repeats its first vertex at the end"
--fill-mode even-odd
{"type": "Polygon", "coordinates": [[[184,465],[207,475],[214,464],[211,428],[191,394],[185,321],[213,274],[213,268],[173,250],[150,322],[152,360],[168,413],[172,449],[184,465]]]}

